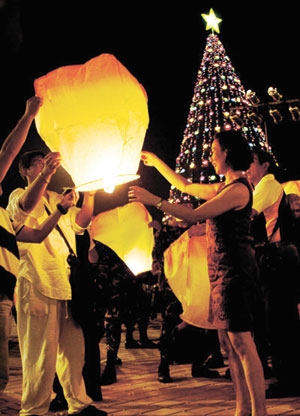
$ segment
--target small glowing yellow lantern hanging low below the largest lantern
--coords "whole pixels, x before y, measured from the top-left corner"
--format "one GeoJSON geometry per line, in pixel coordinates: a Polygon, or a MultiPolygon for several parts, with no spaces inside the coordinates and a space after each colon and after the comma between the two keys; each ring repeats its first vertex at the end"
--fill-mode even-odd
{"type": "Polygon", "coordinates": [[[114,250],[134,274],[152,268],[154,247],[151,215],[139,202],[98,214],[92,221],[91,237],[114,250]]]}

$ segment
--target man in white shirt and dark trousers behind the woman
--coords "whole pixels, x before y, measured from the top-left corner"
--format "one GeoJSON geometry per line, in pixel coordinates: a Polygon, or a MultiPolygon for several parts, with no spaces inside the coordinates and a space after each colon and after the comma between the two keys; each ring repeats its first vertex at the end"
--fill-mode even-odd
{"type": "Polygon", "coordinates": [[[266,326],[272,366],[278,383],[270,385],[267,397],[300,395],[299,257],[296,247],[286,240],[282,209],[284,192],[275,179],[273,156],[263,150],[253,153],[248,171],[254,185],[253,216],[263,213],[267,244],[257,248],[264,293],[266,326]],[[270,244],[269,244],[270,243],[270,244]]]}

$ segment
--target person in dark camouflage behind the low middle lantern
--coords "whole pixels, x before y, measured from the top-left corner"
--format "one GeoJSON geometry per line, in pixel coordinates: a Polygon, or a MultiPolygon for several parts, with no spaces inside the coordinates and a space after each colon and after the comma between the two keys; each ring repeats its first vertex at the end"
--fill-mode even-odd
{"type": "MultiPolygon", "coordinates": [[[[88,257],[93,288],[89,298],[92,309],[90,327],[92,328],[93,325],[95,327],[93,322],[98,322],[98,331],[90,330],[90,333],[99,333],[99,342],[104,335],[106,337],[107,361],[100,383],[109,385],[117,381],[115,366],[122,363],[118,357],[121,325],[134,322],[136,319],[139,287],[135,275],[126,263],[107,245],[92,240],[88,257]]],[[[132,333],[130,335],[126,333],[127,341],[131,341],[129,336],[132,336],[132,333]]],[[[100,377],[99,348],[97,354],[99,356],[97,374],[100,377]]],[[[92,368],[91,365],[89,367],[92,368]]]]}

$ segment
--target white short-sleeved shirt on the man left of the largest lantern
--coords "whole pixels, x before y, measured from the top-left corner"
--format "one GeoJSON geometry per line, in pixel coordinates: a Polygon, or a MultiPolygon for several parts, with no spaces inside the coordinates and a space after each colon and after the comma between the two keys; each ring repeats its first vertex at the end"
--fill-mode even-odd
{"type": "MultiPolygon", "coordinates": [[[[28,214],[20,207],[20,198],[25,189],[15,189],[8,201],[7,210],[11,218],[17,223],[28,227],[38,228],[48,218],[45,205],[52,213],[62,196],[56,192],[47,191],[49,201],[42,197],[35,208],[28,214]]],[[[83,234],[84,229],[76,224],[79,208],[72,207],[66,215],[59,219],[59,226],[65,234],[70,246],[76,253],[75,234],[83,234]]],[[[54,229],[42,243],[18,243],[20,252],[19,277],[24,277],[34,284],[40,293],[52,299],[71,299],[69,283],[70,267],[67,263],[69,249],[54,229]]]]}

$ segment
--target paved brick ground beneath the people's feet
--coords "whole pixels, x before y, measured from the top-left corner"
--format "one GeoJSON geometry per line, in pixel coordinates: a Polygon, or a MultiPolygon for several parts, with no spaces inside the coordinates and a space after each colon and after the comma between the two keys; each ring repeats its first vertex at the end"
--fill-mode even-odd
{"type": "MultiPolygon", "coordinates": [[[[152,321],[149,337],[156,340],[159,331],[159,319],[152,321]]],[[[5,392],[0,393],[1,416],[15,416],[20,408],[22,371],[15,327],[10,344],[11,376],[5,392]]],[[[105,358],[105,345],[101,343],[100,348],[105,358]]],[[[95,404],[109,416],[234,415],[232,384],[225,378],[193,378],[191,365],[174,365],[173,382],[161,384],[157,381],[158,350],[126,350],[124,334],[119,357],[123,364],[117,370],[118,382],[103,386],[103,401],[95,404]]],[[[226,367],[220,369],[220,374],[224,375],[225,370],[226,367]]],[[[267,406],[269,415],[300,416],[300,397],[268,400],[267,406]]]]}

